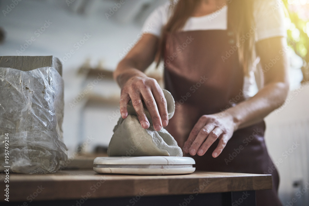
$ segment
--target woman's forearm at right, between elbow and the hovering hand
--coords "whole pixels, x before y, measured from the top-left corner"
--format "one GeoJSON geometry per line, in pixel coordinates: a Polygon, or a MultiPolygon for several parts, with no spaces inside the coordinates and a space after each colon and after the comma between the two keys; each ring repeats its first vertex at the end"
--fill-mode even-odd
{"type": "Polygon", "coordinates": [[[289,90],[286,82],[273,82],[264,86],[255,96],[226,110],[235,122],[234,131],[260,122],[284,103],[289,90]]]}

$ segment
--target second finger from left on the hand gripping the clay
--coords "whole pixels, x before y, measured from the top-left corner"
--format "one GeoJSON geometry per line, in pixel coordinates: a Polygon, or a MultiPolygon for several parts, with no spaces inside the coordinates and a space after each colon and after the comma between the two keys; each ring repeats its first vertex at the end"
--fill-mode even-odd
{"type": "Polygon", "coordinates": [[[142,125],[142,128],[144,128],[144,129],[149,128],[150,124],[149,124],[149,121],[148,121],[146,114],[145,114],[145,111],[144,111],[141,95],[138,94],[138,93],[133,93],[133,94],[130,95],[130,98],[132,100],[132,105],[133,105],[133,108],[136,112],[138,120],[142,125]]]}

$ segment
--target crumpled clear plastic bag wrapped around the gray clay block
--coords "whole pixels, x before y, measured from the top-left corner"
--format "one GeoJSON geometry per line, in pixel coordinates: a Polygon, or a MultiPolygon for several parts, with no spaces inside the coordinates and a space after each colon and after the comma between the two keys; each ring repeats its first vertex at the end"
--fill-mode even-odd
{"type": "Polygon", "coordinates": [[[10,165],[17,173],[57,171],[67,160],[59,72],[53,67],[30,71],[0,68],[0,88],[0,170],[10,165]]]}

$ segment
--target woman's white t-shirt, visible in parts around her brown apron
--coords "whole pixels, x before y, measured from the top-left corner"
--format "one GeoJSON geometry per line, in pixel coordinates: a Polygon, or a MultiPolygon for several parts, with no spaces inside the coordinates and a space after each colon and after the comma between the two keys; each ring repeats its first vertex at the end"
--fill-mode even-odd
{"type": "MultiPolygon", "coordinates": [[[[167,2],[152,12],[143,25],[143,33],[150,33],[160,37],[162,27],[171,16],[169,5],[169,2],[167,2]]],[[[285,15],[281,0],[256,0],[254,8],[253,17],[256,28],[256,42],[275,36],[287,36],[284,26],[285,15]]],[[[217,11],[211,14],[200,17],[190,17],[182,31],[226,29],[227,6],[222,5],[218,7],[217,11]]],[[[246,98],[256,93],[254,72],[252,69],[250,70],[249,77],[246,76],[244,78],[243,84],[243,91],[246,98]]]]}

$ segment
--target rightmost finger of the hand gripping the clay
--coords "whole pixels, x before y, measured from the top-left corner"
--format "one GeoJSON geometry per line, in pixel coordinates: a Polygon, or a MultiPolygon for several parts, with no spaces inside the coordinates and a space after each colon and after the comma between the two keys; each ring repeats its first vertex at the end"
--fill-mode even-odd
{"type": "Polygon", "coordinates": [[[167,113],[167,102],[163,94],[163,91],[158,84],[155,84],[155,86],[152,87],[151,90],[157,103],[162,125],[163,127],[166,127],[168,124],[168,113],[167,113]]]}

